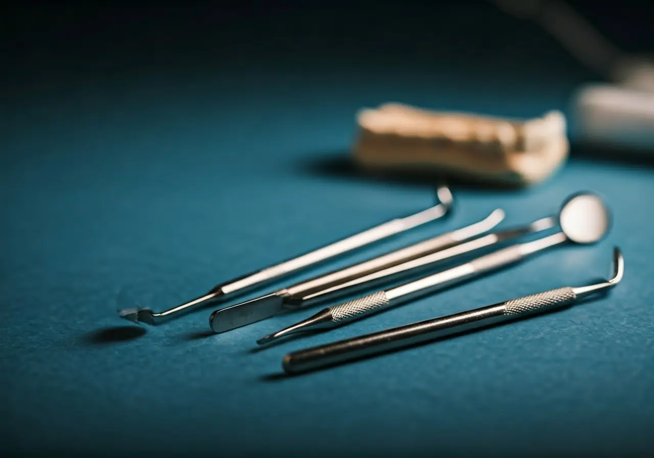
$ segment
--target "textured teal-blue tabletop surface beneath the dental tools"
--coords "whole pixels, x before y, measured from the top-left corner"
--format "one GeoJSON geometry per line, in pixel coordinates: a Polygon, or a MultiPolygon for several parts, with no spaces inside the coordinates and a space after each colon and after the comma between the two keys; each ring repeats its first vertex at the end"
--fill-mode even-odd
{"type": "Polygon", "coordinates": [[[541,115],[566,110],[583,80],[547,68],[489,80],[410,66],[347,68],[300,75],[266,67],[266,84],[247,70],[202,77],[142,71],[75,84],[64,75],[7,99],[1,449],[158,456],[653,451],[651,166],[579,157],[530,190],[455,187],[451,219],[320,271],[468,224],[496,207],[506,210],[505,226],[543,217],[583,189],[606,197],[613,231],[599,245],[549,251],[333,332],[252,352],[257,338],[312,311],[217,336],[207,334],[211,309],[156,328],[120,321],[118,306],[167,308],[430,205],[427,186],[320,165],[347,154],[356,109],[392,100],[541,115]],[[306,376],[277,376],[288,351],[583,285],[608,273],[613,245],[623,250],[626,275],[605,298],[306,376]]]}

